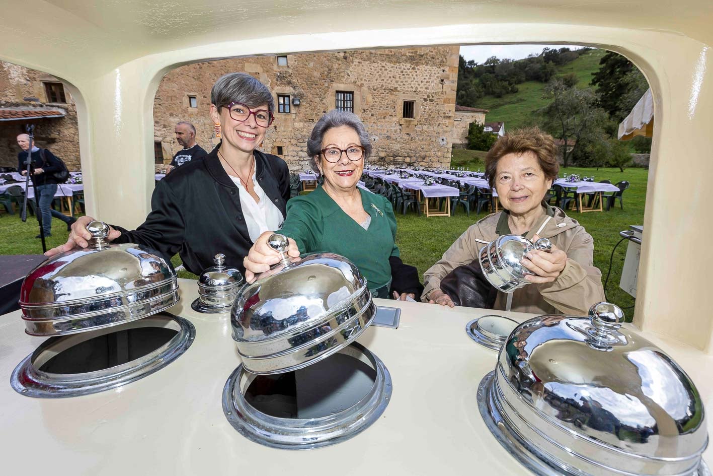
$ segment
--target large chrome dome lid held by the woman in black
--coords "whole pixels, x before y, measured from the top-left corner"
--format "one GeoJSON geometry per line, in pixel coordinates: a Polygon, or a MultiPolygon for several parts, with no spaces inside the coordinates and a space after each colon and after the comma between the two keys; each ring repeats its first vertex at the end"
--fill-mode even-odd
{"type": "Polygon", "coordinates": [[[87,248],[54,255],[25,277],[20,307],[25,332],[64,335],[128,323],[178,302],[173,266],[158,251],[107,243],[109,227],[88,224],[87,248]]]}

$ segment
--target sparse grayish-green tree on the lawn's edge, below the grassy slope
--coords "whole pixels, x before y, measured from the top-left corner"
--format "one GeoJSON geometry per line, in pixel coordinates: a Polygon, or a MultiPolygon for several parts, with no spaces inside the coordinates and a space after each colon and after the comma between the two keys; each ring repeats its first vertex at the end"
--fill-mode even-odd
{"type": "Polygon", "coordinates": [[[563,165],[568,167],[579,141],[606,121],[606,114],[595,106],[595,95],[590,89],[567,86],[562,79],[553,79],[545,86],[543,96],[550,100],[541,113],[545,128],[562,140],[563,165]],[[573,148],[568,144],[574,143],[573,148]]]}

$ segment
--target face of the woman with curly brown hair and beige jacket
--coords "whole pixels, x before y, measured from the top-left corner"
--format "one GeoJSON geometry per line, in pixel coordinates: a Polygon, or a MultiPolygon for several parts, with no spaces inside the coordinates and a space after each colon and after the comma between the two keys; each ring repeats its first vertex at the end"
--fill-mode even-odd
{"type": "Polygon", "coordinates": [[[498,161],[495,188],[503,208],[514,215],[538,208],[551,186],[533,152],[508,153],[498,161]]]}

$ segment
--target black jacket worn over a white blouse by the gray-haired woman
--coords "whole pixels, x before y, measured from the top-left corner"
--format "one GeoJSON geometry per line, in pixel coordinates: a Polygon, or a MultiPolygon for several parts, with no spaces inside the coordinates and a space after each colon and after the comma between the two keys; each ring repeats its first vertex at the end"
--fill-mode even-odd
{"type": "MultiPolygon", "coordinates": [[[[202,161],[176,168],[156,184],[151,213],[134,231],[121,231],[114,243],[138,243],[158,250],[166,260],[180,253],[191,273],[213,265],[217,253],[226,265],[245,273],[242,258],[252,246],[240,207],[240,191],[217,155],[220,144],[202,161]]],[[[289,169],[282,158],[255,151],[255,178],[282,216],[289,199],[289,169]]]]}

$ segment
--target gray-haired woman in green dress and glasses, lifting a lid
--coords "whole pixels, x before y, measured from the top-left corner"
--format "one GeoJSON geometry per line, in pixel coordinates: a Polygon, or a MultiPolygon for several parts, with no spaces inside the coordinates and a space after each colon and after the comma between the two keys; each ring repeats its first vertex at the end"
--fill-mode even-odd
{"type": "MultiPolygon", "coordinates": [[[[312,168],[321,186],[287,203],[279,233],[289,238],[288,254],[337,253],[356,265],[377,298],[416,298],[423,286],[416,268],[399,258],[396,217],[383,196],[357,187],[371,155],[371,141],[354,113],[329,111],[315,124],[307,141],[312,168]]],[[[263,233],[245,258],[246,278],[255,279],[279,261],[263,233]]]]}

